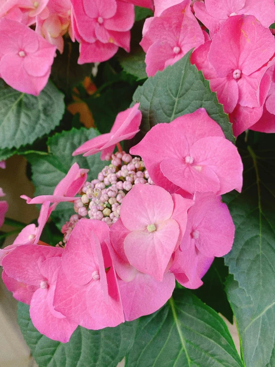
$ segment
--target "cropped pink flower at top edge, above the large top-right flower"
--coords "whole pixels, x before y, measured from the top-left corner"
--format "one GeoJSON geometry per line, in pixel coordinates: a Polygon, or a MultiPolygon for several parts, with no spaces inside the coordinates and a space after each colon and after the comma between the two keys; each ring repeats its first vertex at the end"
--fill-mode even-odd
{"type": "Polygon", "coordinates": [[[204,23],[210,33],[218,32],[221,25],[232,15],[254,15],[266,28],[275,19],[273,0],[205,0],[196,2],[194,10],[196,17],[204,23]]]}

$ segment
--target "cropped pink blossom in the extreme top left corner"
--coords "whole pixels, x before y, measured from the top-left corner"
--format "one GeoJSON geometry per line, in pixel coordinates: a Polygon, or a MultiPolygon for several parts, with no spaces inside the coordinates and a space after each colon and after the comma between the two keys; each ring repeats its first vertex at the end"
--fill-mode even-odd
{"type": "Polygon", "coordinates": [[[49,15],[49,0],[0,0],[0,18],[16,20],[27,26],[35,24],[36,17],[43,19],[49,15]]]}

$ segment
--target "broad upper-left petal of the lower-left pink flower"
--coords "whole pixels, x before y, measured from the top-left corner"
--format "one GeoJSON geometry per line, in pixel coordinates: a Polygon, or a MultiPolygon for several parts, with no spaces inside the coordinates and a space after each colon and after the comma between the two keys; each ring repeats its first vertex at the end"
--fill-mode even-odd
{"type": "Polygon", "coordinates": [[[22,245],[3,258],[2,266],[8,277],[39,287],[45,280],[40,271],[43,261],[49,257],[61,256],[62,253],[63,248],[59,247],[22,245]]]}

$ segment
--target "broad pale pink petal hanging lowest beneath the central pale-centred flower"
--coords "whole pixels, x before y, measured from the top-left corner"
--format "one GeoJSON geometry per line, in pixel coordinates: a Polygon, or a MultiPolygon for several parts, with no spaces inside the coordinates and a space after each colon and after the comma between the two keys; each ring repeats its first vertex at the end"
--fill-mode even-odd
{"type": "Polygon", "coordinates": [[[119,281],[125,319],[132,321],[157,311],[171,297],[174,288],[175,277],[171,273],[164,274],[162,282],[142,273],[132,282],[119,281]]]}

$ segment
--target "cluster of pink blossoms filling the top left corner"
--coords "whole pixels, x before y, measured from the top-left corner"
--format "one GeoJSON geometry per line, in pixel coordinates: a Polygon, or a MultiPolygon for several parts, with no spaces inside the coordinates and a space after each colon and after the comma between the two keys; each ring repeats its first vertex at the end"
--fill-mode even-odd
{"type": "Polygon", "coordinates": [[[67,32],[80,43],[79,64],[108,60],[119,47],[129,52],[134,4],[153,6],[151,0],[0,0],[0,77],[38,95],[67,32]]]}

